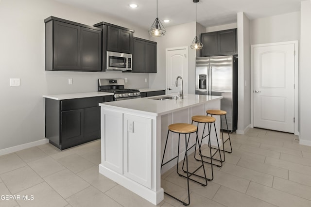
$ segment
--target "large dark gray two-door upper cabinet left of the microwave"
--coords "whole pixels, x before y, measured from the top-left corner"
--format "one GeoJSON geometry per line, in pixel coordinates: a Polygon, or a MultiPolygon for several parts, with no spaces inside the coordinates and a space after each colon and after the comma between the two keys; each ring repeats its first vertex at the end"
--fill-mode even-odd
{"type": "Polygon", "coordinates": [[[102,70],[101,29],[54,16],[44,21],[46,70],[102,70]]]}

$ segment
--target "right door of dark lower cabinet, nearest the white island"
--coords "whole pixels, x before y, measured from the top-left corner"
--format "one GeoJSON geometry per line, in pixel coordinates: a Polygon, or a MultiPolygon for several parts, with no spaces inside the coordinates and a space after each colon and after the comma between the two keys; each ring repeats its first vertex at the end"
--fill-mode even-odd
{"type": "Polygon", "coordinates": [[[101,138],[101,107],[84,109],[84,141],[101,138]]]}

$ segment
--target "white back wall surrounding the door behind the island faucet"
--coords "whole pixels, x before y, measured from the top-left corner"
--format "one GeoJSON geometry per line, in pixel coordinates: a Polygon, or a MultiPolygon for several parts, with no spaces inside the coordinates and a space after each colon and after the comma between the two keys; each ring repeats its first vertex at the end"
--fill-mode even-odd
{"type": "MultiPolygon", "coordinates": [[[[154,37],[157,42],[157,73],[150,74],[150,88],[165,89],[166,83],[166,48],[188,47],[188,93],[195,94],[195,57],[196,50],[190,49],[195,36],[195,22],[167,27],[163,37],[154,37]]],[[[199,33],[199,32],[198,32],[199,33]]],[[[185,80],[184,80],[185,84],[185,80]]],[[[184,85],[185,87],[185,85],[184,85]]]]}

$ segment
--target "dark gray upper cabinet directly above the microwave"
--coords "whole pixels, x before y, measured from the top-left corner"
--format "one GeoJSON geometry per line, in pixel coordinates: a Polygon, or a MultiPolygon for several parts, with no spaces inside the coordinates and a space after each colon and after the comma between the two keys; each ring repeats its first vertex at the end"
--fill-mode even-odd
{"type": "Polygon", "coordinates": [[[102,35],[102,71],[106,70],[107,51],[133,54],[133,33],[132,29],[120,27],[107,22],[100,22],[93,25],[103,30],[102,35]]]}

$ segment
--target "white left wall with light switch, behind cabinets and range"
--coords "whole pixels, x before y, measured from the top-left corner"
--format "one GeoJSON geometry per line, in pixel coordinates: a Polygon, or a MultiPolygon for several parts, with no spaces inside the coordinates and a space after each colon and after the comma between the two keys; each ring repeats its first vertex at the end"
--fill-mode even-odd
{"type": "Polygon", "coordinates": [[[44,139],[44,94],[97,91],[99,78],[126,77],[127,87],[148,87],[144,82],[148,74],[45,71],[44,19],[49,16],[86,25],[105,21],[134,29],[134,36],[149,39],[148,32],[135,25],[58,1],[1,0],[0,149],[44,139]],[[10,87],[10,78],[20,78],[20,86],[10,87]],[[68,78],[73,78],[73,85],[68,85],[68,78]]]}

